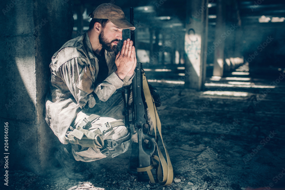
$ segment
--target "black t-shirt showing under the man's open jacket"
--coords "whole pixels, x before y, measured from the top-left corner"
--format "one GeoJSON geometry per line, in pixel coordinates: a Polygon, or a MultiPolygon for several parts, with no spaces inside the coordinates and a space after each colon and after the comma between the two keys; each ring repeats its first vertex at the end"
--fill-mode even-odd
{"type": "Polygon", "coordinates": [[[98,70],[98,75],[97,75],[97,78],[96,78],[96,81],[95,81],[95,87],[99,84],[99,83],[102,83],[103,80],[105,80],[108,76],[108,73],[109,73],[109,68],[107,66],[107,62],[106,62],[106,59],[105,59],[105,50],[102,49],[101,51],[101,55],[103,56],[99,56],[98,54],[96,54],[95,52],[94,55],[98,58],[98,63],[99,63],[99,70],[98,70]]]}

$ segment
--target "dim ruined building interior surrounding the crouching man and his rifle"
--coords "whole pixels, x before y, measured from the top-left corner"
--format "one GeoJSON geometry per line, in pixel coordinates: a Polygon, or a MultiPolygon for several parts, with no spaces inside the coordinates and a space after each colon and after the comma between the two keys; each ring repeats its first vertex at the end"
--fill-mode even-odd
{"type": "Polygon", "coordinates": [[[0,4],[1,189],[285,189],[285,1],[0,4]],[[121,7],[127,20],[134,8],[137,61],[162,102],[170,186],[128,173],[130,149],[86,163],[88,181],[66,177],[54,157],[60,142],[44,115],[50,60],[88,30],[89,13],[102,3],[121,7]]]}

